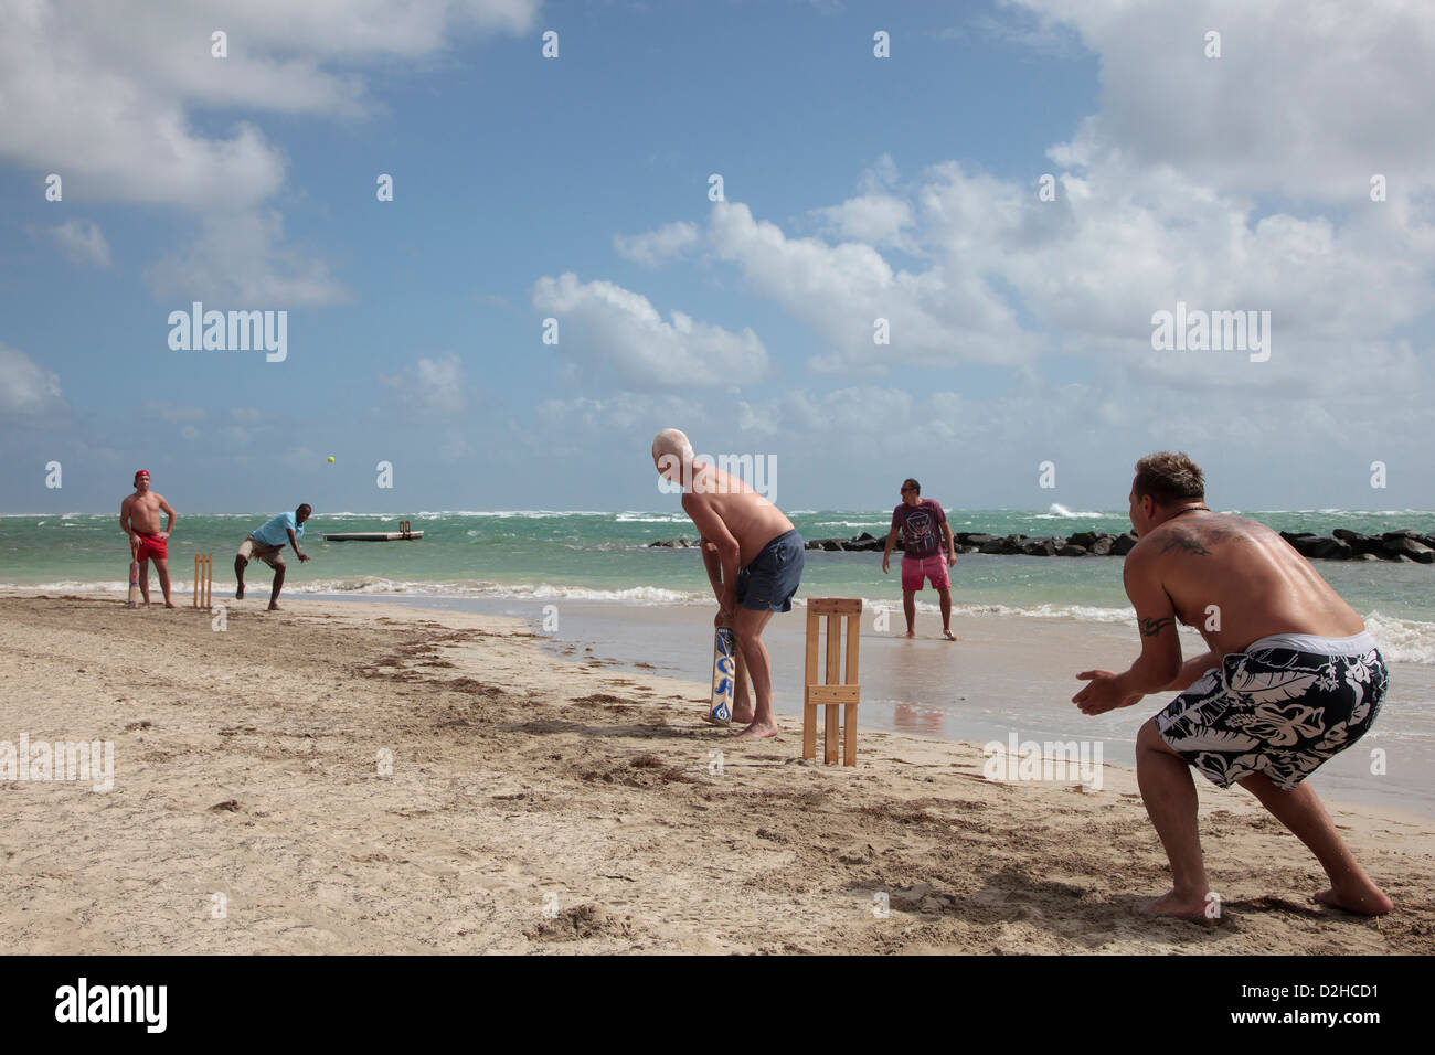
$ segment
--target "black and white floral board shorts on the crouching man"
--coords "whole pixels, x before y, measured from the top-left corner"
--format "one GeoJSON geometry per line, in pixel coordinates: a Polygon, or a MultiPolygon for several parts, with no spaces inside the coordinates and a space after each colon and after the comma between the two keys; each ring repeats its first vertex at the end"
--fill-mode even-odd
{"type": "Polygon", "coordinates": [[[1261,637],[1171,700],[1157,732],[1221,788],[1264,772],[1294,791],[1366,733],[1388,685],[1368,633],[1261,637]]]}

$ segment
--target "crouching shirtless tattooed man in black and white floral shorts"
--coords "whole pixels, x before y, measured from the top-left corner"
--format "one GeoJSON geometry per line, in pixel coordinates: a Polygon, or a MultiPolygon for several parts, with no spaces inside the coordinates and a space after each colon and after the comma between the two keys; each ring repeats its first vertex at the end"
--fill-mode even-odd
{"type": "Polygon", "coordinates": [[[1356,864],[1303,781],[1375,722],[1389,675],[1360,616],[1304,557],[1263,524],[1213,512],[1201,469],[1184,454],[1137,462],[1126,596],[1141,656],[1121,675],[1083,670],[1072,702],[1088,715],[1184,689],[1141,726],[1137,779],[1171,860],[1171,893],[1145,911],[1201,919],[1210,887],[1191,769],[1240,784],[1320,861],[1330,888],[1314,900],[1380,916],[1389,897],[1356,864]],[[1177,620],[1210,652],[1181,662],[1177,620]]]}

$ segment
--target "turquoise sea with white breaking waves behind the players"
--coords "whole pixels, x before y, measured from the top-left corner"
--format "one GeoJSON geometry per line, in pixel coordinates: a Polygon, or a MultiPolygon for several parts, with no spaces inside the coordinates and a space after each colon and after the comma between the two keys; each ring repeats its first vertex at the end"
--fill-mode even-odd
{"type": "MultiPolygon", "coordinates": [[[[676,505],[676,500],[674,500],[676,505]]],[[[1277,530],[1349,527],[1380,533],[1435,531],[1435,512],[1413,510],[1237,511],[1277,530]]],[[[188,590],[195,553],[214,553],[215,596],[232,590],[232,555],[267,512],[184,514],[171,538],[178,590],[188,590]]],[[[805,538],[881,537],[890,510],[789,512],[805,538]]],[[[954,531],[1027,535],[1129,528],[1125,511],[950,510],[954,531]]],[[[593,600],[618,604],[709,604],[696,550],[649,548],[660,538],[695,537],[682,511],[442,511],[412,514],[317,512],[306,525],[313,557],[290,558],[287,591],[307,594],[393,594],[519,600],[593,600]],[[423,538],[408,543],[326,543],[324,533],[393,531],[410,520],[423,538]]],[[[808,551],[802,594],[862,597],[900,604],[895,574],[884,576],[880,554],[808,551]]],[[[122,591],[129,548],[115,514],[0,517],[0,587],[122,591]]],[[[1435,567],[1391,563],[1319,561],[1320,573],[1366,617],[1388,659],[1435,665],[1435,567]]],[[[267,584],[268,570],[254,581],[267,584]]],[[[158,583],[154,583],[158,587],[158,583]]],[[[1132,617],[1112,557],[961,555],[953,577],[957,611],[1071,617],[1121,623],[1132,617]]],[[[799,594],[801,596],[801,594],[799,594]]],[[[921,594],[921,610],[930,610],[921,594]]]]}

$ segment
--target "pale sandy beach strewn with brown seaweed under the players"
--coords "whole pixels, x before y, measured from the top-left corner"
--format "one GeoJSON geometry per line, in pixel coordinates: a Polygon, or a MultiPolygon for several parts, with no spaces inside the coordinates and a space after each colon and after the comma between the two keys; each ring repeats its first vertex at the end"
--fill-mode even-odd
{"type": "Polygon", "coordinates": [[[215,632],[0,599],[0,741],[115,759],[105,792],[0,781],[14,952],[1435,950],[1426,818],[1330,804],[1396,901],[1368,920],[1314,906],[1304,847],[1200,782],[1221,919],[1154,920],[1165,857],[1129,768],[997,784],[979,745],[871,729],[855,769],[805,764],[791,718],[735,742],[707,686],[554,656],[519,620],[228,604],[215,632]]]}

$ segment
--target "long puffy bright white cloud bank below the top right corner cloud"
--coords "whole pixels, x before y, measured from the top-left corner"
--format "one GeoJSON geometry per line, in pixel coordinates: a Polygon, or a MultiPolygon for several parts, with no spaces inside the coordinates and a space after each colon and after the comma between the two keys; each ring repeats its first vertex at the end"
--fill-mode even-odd
{"type": "MultiPolygon", "coordinates": [[[[829,350],[809,360],[817,373],[1020,366],[1063,355],[1158,386],[1264,386],[1286,402],[1378,390],[1389,375],[1376,363],[1421,373],[1401,340],[1435,304],[1428,204],[1260,215],[1247,197],[1116,152],[1058,177],[1049,202],[1035,182],[957,162],[881,191],[908,207],[887,215],[911,217],[903,237],[924,264],[913,271],[894,268],[878,245],[855,237],[838,244],[788,237],[742,204],[716,204],[703,243],[735,264],[753,293],[827,342],[829,350]],[[1205,311],[1270,311],[1270,362],[1152,352],[1151,316],[1178,300],[1205,311]],[[890,320],[891,346],[874,344],[877,317],[890,320]]],[[[827,215],[841,222],[847,214],[827,215]]]]}

